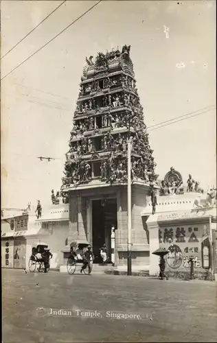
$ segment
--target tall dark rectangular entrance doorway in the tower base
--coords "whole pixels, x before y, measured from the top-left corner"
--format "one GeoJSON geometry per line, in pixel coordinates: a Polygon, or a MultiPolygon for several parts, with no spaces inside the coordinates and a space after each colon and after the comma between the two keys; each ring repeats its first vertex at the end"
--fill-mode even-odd
{"type": "Polygon", "coordinates": [[[92,233],[94,263],[102,263],[100,248],[106,244],[111,262],[111,227],[117,228],[117,199],[92,200],[92,233]]]}

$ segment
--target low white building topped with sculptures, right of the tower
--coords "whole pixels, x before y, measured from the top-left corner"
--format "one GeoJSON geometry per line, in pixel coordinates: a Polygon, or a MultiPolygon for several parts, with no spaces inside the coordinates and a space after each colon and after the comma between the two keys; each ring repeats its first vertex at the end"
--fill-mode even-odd
{"type": "MultiPolygon", "coordinates": [[[[172,192],[171,188],[166,189],[167,178],[177,184],[182,182],[181,174],[170,170],[163,182],[164,192],[161,188],[161,195],[157,196],[156,213],[152,215],[151,202],[141,213],[146,218],[144,221],[149,233],[149,272],[159,274],[159,257],[152,252],[165,248],[169,251],[165,256],[168,274],[189,275],[189,259],[192,257],[194,276],[208,278],[217,272],[216,190],[211,187],[207,191],[209,194],[203,194],[194,192],[194,187],[188,187],[187,192],[172,192]]],[[[169,186],[172,187],[171,182],[169,186]]]]}

